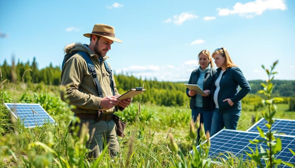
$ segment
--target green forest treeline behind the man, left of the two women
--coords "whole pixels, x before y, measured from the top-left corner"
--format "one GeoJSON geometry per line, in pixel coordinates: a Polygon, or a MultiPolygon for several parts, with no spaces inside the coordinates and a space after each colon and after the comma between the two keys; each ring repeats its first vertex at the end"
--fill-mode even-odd
{"type": "MultiPolygon", "coordinates": [[[[10,66],[5,60],[0,66],[2,71],[2,81],[8,79],[12,81],[12,69],[17,76],[16,82],[24,81],[25,83],[40,83],[59,85],[60,84],[60,74],[61,70],[59,66],[53,67],[52,64],[41,70],[38,69],[38,64],[36,59],[30,64],[22,63],[20,61],[15,64],[15,66],[10,66]],[[31,69],[32,71],[27,69],[31,69]],[[25,75],[24,72],[26,71],[25,75]],[[23,80],[22,80],[22,76],[23,80]]],[[[139,101],[142,98],[142,102],[150,102],[151,104],[158,104],[164,106],[183,106],[187,105],[189,98],[185,94],[186,87],[183,84],[174,82],[161,82],[156,79],[137,79],[134,76],[126,76],[124,74],[115,74],[115,81],[117,84],[117,89],[119,93],[123,94],[129,89],[135,87],[143,87],[146,89],[142,97],[136,96],[135,101],[139,101]]]]}

